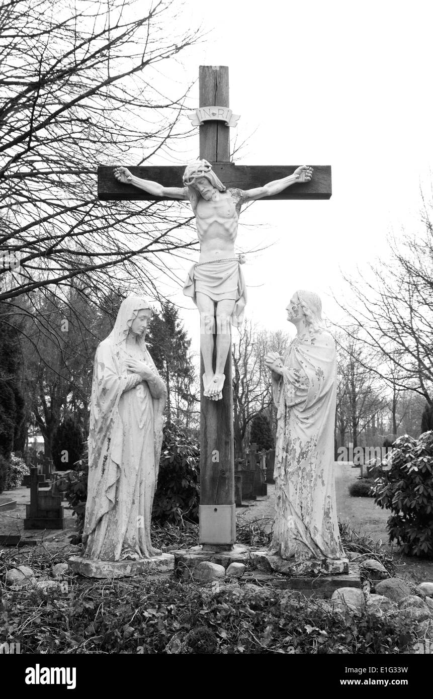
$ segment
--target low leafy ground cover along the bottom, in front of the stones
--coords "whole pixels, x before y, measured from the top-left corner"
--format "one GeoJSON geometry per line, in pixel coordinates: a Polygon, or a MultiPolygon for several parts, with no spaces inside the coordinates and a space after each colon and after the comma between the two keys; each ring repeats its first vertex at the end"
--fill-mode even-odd
{"type": "Polygon", "coordinates": [[[76,579],[57,589],[8,589],[0,643],[20,633],[27,654],[401,654],[415,642],[401,618],[251,584],[213,592],[175,579],[76,579]],[[103,609],[104,613],[99,613],[103,609]],[[173,637],[178,636],[178,649],[173,637]]]}

